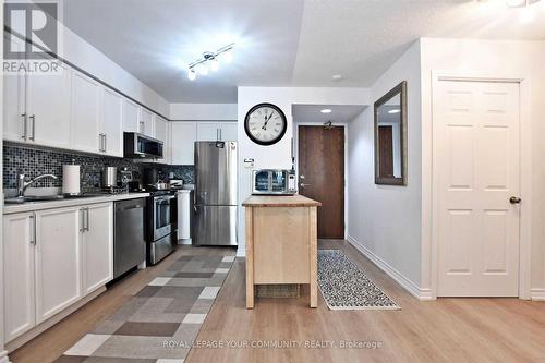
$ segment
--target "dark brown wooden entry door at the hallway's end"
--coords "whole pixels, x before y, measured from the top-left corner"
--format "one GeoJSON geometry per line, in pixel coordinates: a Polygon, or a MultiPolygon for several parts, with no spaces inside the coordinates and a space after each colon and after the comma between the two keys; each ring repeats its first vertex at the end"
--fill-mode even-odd
{"type": "Polygon", "coordinates": [[[344,238],[344,128],[299,126],[299,193],[322,202],[318,238],[344,238]]]}

